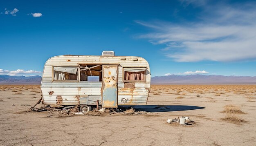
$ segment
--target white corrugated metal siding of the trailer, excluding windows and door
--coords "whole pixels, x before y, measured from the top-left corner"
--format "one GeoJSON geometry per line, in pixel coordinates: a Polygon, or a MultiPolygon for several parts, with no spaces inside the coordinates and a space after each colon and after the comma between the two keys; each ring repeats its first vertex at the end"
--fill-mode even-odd
{"type": "Polygon", "coordinates": [[[41,90],[45,104],[56,104],[61,95],[63,105],[79,104],[76,95],[101,95],[101,82],[52,82],[52,66],[79,66],[79,64],[120,64],[118,67],[118,104],[146,104],[150,88],[148,62],[140,57],[127,56],[73,56],[62,55],[50,58],[45,63],[41,90]],[[126,60],[120,60],[125,57],[126,60]],[[133,61],[132,58],[138,58],[133,61]],[[123,67],[147,67],[146,82],[135,82],[135,89],[124,88],[123,67]],[[49,95],[49,91],[54,94],[49,95]],[[121,102],[121,99],[127,102],[121,102]]]}

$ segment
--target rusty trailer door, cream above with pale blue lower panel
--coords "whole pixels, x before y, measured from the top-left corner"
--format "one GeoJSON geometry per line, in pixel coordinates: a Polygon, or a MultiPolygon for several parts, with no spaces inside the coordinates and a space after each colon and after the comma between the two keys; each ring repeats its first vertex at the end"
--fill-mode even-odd
{"type": "Polygon", "coordinates": [[[102,107],[117,108],[118,65],[102,65],[102,107]]]}

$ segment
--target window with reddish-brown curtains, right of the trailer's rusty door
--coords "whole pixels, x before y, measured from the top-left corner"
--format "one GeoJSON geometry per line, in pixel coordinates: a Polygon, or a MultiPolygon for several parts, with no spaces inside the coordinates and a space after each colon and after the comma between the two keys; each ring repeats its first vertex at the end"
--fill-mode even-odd
{"type": "Polygon", "coordinates": [[[145,81],[146,68],[124,68],[124,81],[145,81]]]}

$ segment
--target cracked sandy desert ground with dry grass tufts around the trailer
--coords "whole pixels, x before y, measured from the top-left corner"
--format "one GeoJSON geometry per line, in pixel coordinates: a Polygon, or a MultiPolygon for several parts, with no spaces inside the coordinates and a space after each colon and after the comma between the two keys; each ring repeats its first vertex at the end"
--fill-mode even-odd
{"type": "Polygon", "coordinates": [[[39,85],[0,85],[0,145],[256,145],[256,85],[152,85],[141,115],[23,112],[39,99],[39,85]]]}

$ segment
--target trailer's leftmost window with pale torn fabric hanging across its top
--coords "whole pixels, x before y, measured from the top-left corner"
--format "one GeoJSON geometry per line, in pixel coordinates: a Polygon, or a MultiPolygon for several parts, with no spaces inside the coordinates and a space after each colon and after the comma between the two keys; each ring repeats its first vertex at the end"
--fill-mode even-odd
{"type": "Polygon", "coordinates": [[[54,80],[77,80],[78,67],[54,66],[54,80]]]}

